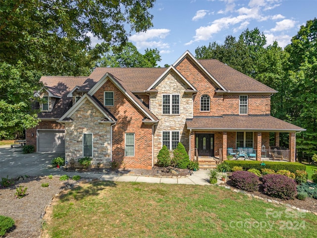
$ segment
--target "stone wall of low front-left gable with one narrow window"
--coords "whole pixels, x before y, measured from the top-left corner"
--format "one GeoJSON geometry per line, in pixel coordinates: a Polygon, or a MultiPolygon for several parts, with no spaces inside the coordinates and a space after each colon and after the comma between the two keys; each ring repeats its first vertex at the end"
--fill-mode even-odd
{"type": "Polygon", "coordinates": [[[100,123],[105,116],[88,100],[65,123],[65,160],[77,162],[83,156],[83,133],[93,133],[93,166],[110,167],[110,124],[100,123]]]}

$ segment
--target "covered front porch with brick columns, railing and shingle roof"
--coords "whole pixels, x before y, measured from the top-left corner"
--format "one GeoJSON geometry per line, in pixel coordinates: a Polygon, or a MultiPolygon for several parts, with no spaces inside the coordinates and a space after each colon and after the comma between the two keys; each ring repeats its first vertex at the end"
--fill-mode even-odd
{"type": "Polygon", "coordinates": [[[222,116],[187,119],[190,158],[295,162],[296,133],[305,129],[271,116],[222,116]],[[270,144],[270,132],[274,142],[270,144]],[[280,132],[289,134],[288,148],[280,147],[280,132]]]}

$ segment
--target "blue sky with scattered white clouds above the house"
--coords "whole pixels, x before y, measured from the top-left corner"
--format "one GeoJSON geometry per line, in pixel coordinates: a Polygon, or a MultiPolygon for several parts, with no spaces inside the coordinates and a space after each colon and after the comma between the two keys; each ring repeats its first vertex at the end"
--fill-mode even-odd
{"type": "Polygon", "coordinates": [[[132,33],[132,42],[141,54],[158,49],[159,66],[174,63],[185,51],[195,56],[195,49],[226,36],[239,35],[258,27],[267,45],[274,40],[284,48],[290,44],[301,25],[317,17],[317,0],[156,0],[150,9],[153,27],[132,33]]]}

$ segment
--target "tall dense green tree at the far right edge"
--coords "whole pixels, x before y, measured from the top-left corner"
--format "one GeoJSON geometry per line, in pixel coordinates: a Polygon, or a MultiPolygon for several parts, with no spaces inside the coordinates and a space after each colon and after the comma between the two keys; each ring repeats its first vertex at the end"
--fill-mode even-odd
{"type": "Polygon", "coordinates": [[[290,119],[307,131],[297,148],[309,156],[317,153],[317,19],[307,21],[285,48],[289,53],[288,76],[292,80],[290,119]]]}

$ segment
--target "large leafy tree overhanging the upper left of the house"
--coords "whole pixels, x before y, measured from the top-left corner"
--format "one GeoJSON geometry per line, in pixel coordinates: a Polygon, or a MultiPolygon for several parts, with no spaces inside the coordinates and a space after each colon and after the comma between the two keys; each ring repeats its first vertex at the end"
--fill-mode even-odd
{"type": "Polygon", "coordinates": [[[1,136],[37,123],[29,104],[42,87],[40,75],[88,74],[110,46],[152,26],[154,1],[1,0],[1,136]],[[104,43],[92,48],[89,34],[104,43]]]}

